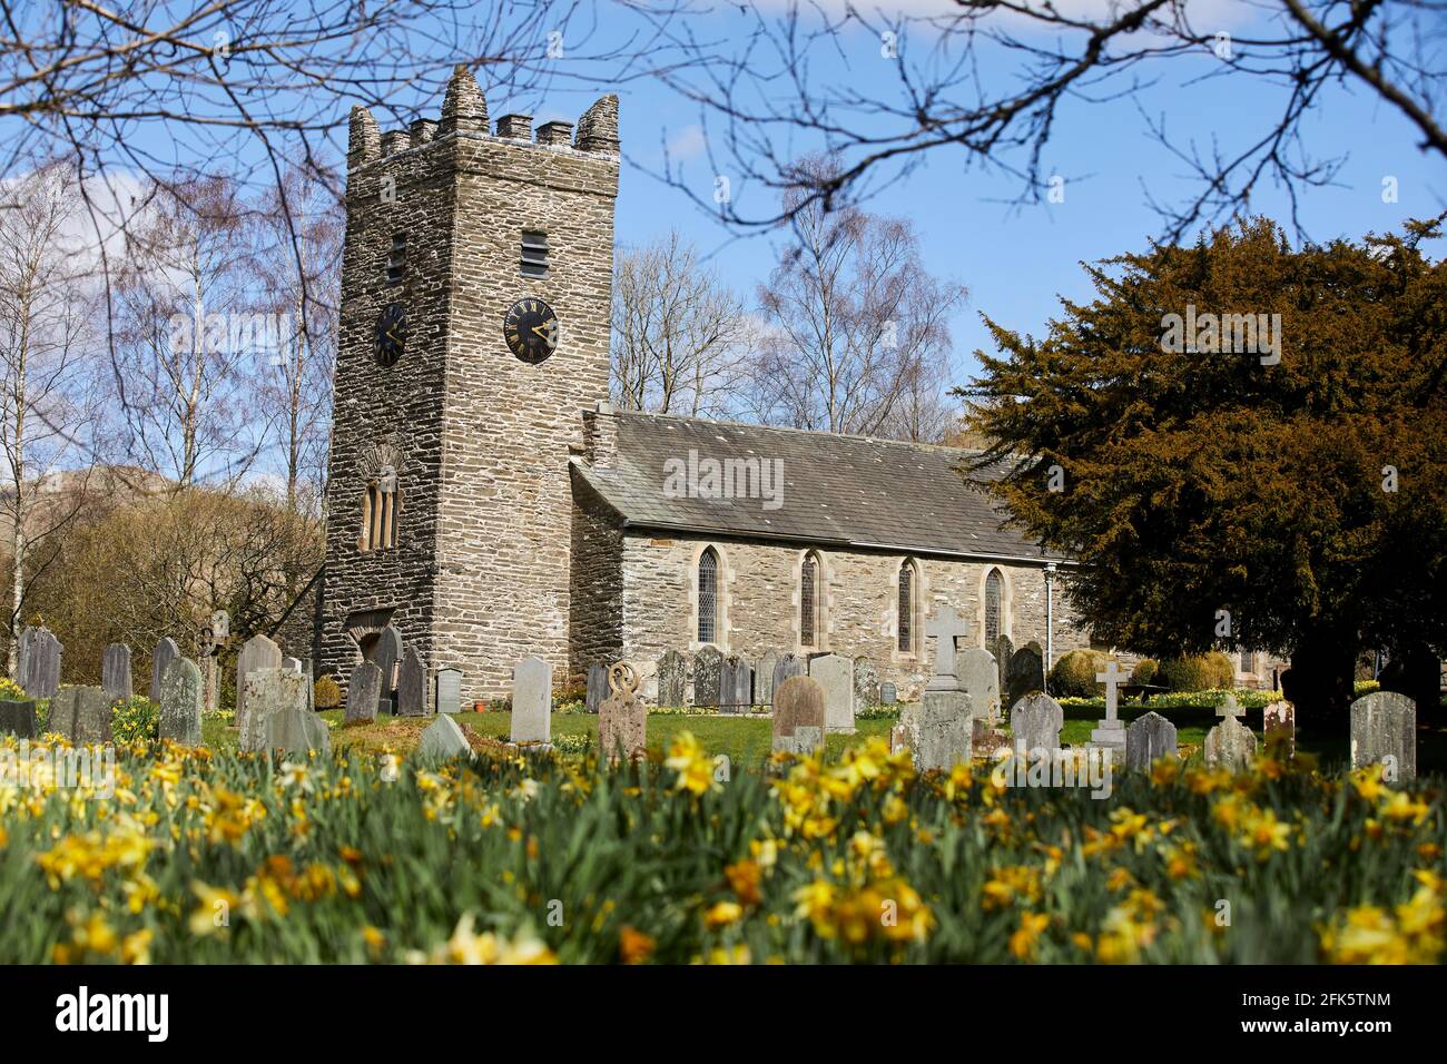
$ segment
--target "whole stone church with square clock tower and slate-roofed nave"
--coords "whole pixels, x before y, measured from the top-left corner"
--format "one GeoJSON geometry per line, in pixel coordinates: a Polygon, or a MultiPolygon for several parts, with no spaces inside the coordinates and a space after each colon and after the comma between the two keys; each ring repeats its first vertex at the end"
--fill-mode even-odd
{"type": "Polygon", "coordinates": [[[977,646],[1085,646],[1071,562],[959,452],[609,405],[618,143],[614,96],[493,126],[463,69],[440,122],[353,110],[320,670],[394,625],[464,702],[528,656],[563,686],[703,646],[865,656],[907,698],[946,604],[977,646]]]}

